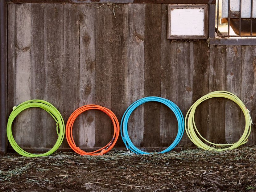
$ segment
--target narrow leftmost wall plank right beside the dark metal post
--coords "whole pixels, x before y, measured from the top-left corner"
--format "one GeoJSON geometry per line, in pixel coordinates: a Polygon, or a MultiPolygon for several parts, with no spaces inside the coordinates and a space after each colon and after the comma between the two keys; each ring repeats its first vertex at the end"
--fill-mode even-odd
{"type": "MultiPolygon", "coordinates": [[[[14,49],[14,23],[15,23],[15,4],[8,4],[8,24],[7,24],[7,100],[8,100],[8,116],[12,112],[14,106],[14,94],[15,94],[15,49],[14,49]]],[[[12,130],[15,135],[15,129],[12,130]]],[[[8,144],[8,148],[10,148],[8,144]]]]}

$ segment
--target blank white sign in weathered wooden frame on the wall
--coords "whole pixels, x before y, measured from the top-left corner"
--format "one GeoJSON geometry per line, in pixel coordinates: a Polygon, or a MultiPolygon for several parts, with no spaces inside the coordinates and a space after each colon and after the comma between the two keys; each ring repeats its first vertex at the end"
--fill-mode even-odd
{"type": "Polygon", "coordinates": [[[168,5],[168,39],[207,39],[207,26],[207,5],[168,5]]]}

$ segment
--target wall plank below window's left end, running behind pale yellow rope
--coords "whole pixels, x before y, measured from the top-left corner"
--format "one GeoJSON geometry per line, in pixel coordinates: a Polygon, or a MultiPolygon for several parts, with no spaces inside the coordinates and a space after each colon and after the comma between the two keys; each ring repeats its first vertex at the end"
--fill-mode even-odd
{"type": "MultiPolygon", "coordinates": [[[[209,92],[225,90],[225,46],[210,46],[209,92]]],[[[225,99],[209,99],[208,141],[225,143],[225,99]]]]}

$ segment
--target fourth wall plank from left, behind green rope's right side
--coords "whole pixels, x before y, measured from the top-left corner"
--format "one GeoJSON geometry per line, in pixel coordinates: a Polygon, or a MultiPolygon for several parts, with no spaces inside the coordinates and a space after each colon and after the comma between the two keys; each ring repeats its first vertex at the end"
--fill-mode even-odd
{"type": "MultiPolygon", "coordinates": [[[[63,4],[47,4],[47,100],[63,115],[63,4]]],[[[56,122],[47,118],[47,147],[56,143],[56,122]]]]}

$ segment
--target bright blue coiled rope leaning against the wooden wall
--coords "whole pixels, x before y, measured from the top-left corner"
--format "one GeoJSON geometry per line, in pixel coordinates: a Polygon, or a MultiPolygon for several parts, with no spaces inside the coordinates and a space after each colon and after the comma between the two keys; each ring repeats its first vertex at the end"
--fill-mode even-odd
{"type": "Polygon", "coordinates": [[[180,109],[178,108],[178,106],[176,104],[174,104],[172,101],[167,100],[165,98],[162,97],[156,97],[156,96],[150,96],[150,97],[144,97],[141,98],[137,101],[135,101],[133,104],[131,104],[125,111],[123,117],[122,117],[122,121],[121,121],[121,136],[122,136],[122,140],[124,141],[126,148],[130,149],[131,151],[133,151],[134,153],[139,153],[139,154],[150,154],[147,152],[144,152],[140,149],[138,149],[130,140],[130,137],[128,135],[128,130],[127,130],[127,124],[128,124],[128,119],[130,117],[130,114],[134,111],[135,108],[137,108],[139,105],[149,102],[149,101],[157,101],[160,103],[163,103],[165,105],[167,105],[175,114],[177,121],[178,121],[178,133],[177,136],[175,138],[175,140],[173,141],[173,143],[167,147],[166,149],[164,149],[163,151],[160,151],[159,153],[164,153],[167,151],[170,151],[171,149],[173,149],[180,141],[183,132],[184,132],[184,118],[182,115],[182,112],[180,111],[180,109]]]}

